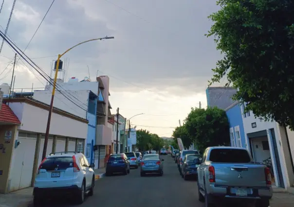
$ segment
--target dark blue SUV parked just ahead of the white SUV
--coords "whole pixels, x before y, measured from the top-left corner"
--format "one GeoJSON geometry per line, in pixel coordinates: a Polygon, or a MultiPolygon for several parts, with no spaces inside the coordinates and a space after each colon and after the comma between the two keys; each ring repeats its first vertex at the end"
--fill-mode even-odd
{"type": "Polygon", "coordinates": [[[110,176],[112,173],[129,173],[129,160],[128,157],[122,154],[111,154],[106,163],[106,176],[110,176]]]}

